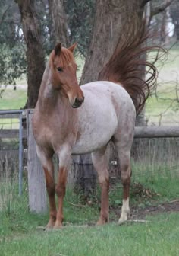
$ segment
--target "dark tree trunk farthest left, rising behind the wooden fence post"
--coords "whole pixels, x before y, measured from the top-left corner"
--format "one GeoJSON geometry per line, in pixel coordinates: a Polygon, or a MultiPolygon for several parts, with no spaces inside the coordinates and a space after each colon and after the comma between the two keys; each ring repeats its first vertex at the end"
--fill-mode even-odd
{"type": "Polygon", "coordinates": [[[24,39],[27,44],[27,103],[26,108],[36,106],[39,87],[45,69],[45,55],[42,50],[39,23],[34,0],[16,0],[23,25],[24,39]]]}

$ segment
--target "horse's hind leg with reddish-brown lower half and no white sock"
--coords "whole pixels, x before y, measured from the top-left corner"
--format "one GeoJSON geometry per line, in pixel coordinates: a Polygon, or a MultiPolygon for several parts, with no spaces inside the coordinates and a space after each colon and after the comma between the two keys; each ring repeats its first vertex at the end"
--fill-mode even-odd
{"type": "Polygon", "coordinates": [[[108,162],[105,157],[105,148],[100,149],[92,154],[93,165],[99,176],[99,184],[101,187],[101,212],[97,225],[108,222],[108,188],[109,188],[109,174],[108,162]]]}

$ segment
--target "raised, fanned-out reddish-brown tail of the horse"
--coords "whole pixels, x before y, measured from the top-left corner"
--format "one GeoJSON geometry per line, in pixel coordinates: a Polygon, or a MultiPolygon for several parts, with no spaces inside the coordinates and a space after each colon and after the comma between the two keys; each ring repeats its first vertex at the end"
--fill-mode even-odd
{"type": "Polygon", "coordinates": [[[120,37],[115,52],[98,77],[98,80],[120,83],[130,94],[137,114],[143,109],[157,78],[154,62],[146,60],[145,54],[162,49],[160,46],[145,46],[149,37],[145,21],[139,29],[130,23],[130,28],[120,37]]]}

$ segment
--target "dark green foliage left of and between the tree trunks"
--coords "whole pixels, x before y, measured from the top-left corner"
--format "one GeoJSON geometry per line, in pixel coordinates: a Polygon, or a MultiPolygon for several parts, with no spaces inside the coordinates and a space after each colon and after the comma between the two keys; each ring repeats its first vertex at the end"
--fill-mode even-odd
{"type": "MultiPolygon", "coordinates": [[[[94,0],[64,1],[71,43],[77,41],[78,50],[83,56],[86,56],[92,34],[94,3],[94,0]]],[[[54,43],[48,2],[44,5],[42,0],[36,1],[36,13],[41,31],[39,37],[42,39],[46,54],[49,55],[54,43]]],[[[18,6],[14,0],[2,0],[0,2],[0,84],[15,85],[16,79],[26,73],[25,48],[18,6]]]]}

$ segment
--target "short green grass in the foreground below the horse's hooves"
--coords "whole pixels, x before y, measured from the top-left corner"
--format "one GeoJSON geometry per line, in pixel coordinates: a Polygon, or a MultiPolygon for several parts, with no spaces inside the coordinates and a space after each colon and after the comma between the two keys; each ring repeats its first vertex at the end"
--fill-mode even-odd
{"type": "Polygon", "coordinates": [[[1,243],[5,255],[178,255],[178,214],[149,219],[146,224],[28,232],[1,243]]]}

